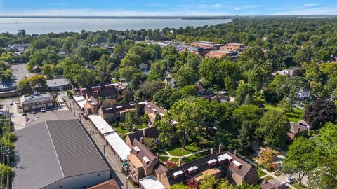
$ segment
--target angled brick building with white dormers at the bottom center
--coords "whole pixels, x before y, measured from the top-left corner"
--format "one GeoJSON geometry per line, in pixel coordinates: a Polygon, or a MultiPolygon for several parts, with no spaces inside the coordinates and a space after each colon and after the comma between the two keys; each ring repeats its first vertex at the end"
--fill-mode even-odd
{"type": "Polygon", "coordinates": [[[221,150],[217,154],[192,160],[163,174],[156,174],[157,179],[166,188],[170,188],[176,183],[186,184],[187,180],[192,177],[201,181],[205,175],[216,176],[218,179],[224,177],[235,185],[256,184],[258,179],[258,172],[249,163],[229,151],[222,152],[221,150]]]}

